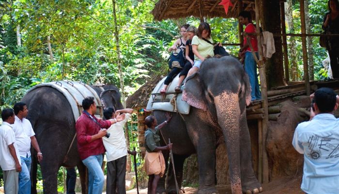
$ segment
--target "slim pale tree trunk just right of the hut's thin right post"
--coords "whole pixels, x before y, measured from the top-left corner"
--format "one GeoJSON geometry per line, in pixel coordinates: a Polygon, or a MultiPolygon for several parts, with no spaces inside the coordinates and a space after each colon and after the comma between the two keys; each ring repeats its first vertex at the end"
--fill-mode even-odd
{"type": "MultiPolygon", "coordinates": [[[[311,24],[309,19],[309,9],[308,9],[309,0],[305,0],[305,22],[306,22],[306,33],[311,33],[311,24]]],[[[307,39],[307,49],[308,49],[308,72],[309,80],[314,80],[314,63],[313,63],[313,44],[312,36],[306,37],[307,39]]]]}

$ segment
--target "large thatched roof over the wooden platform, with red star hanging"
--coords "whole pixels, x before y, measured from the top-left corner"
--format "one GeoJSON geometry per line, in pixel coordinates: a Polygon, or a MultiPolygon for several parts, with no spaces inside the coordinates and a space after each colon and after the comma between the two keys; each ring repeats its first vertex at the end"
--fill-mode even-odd
{"type": "Polygon", "coordinates": [[[237,18],[239,2],[242,2],[243,9],[246,11],[254,10],[254,0],[231,0],[234,6],[230,6],[228,14],[222,5],[218,5],[221,0],[159,0],[152,14],[154,19],[175,19],[187,16],[200,17],[200,2],[202,6],[202,16],[237,18]]]}

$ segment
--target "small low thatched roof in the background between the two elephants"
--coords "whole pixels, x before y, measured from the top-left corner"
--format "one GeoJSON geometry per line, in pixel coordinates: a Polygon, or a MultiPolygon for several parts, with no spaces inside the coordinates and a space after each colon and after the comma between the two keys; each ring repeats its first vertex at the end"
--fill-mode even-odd
{"type": "Polygon", "coordinates": [[[126,108],[146,108],[154,87],[161,79],[161,76],[155,76],[143,84],[132,96],[127,98],[126,108]]]}

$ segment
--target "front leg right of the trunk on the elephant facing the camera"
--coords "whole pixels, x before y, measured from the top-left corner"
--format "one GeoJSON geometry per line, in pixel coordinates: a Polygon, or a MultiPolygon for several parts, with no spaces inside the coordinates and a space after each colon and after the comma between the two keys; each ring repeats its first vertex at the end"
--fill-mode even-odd
{"type": "Polygon", "coordinates": [[[241,186],[246,194],[262,192],[262,186],[255,176],[252,166],[251,140],[247,127],[246,111],[240,118],[240,162],[241,162],[241,186]]]}

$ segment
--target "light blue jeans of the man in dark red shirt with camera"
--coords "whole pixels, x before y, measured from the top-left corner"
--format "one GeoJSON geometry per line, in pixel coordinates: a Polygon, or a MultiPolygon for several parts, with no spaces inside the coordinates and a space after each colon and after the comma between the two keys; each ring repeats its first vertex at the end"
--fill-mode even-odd
{"type": "Polygon", "coordinates": [[[102,194],[105,183],[102,161],[102,154],[90,156],[82,161],[88,169],[88,194],[102,194]]]}

